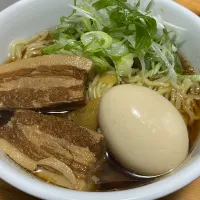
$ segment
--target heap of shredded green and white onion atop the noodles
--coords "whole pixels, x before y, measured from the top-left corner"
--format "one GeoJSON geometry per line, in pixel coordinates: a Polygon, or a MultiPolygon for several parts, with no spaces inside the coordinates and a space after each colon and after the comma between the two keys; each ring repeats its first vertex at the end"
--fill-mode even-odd
{"type": "Polygon", "coordinates": [[[144,10],[140,1],[129,2],[82,0],[78,4],[75,0],[70,5],[73,13],[61,17],[52,32],[55,42],[44,47],[43,53],[86,56],[93,60],[97,73],[113,68],[119,77],[131,77],[138,68],[143,74],[146,70],[154,76],[165,73],[176,82],[182,68],[173,32],[166,28],[176,26],[151,16],[153,1],[147,1],[144,10]]]}

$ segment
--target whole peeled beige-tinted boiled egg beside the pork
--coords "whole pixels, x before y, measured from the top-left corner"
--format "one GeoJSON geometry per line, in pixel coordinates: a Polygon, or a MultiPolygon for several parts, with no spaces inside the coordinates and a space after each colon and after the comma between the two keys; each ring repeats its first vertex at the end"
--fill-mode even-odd
{"type": "Polygon", "coordinates": [[[187,158],[188,131],[181,114],[151,89],[113,87],[102,97],[98,119],[109,151],[134,173],[161,175],[187,158]]]}

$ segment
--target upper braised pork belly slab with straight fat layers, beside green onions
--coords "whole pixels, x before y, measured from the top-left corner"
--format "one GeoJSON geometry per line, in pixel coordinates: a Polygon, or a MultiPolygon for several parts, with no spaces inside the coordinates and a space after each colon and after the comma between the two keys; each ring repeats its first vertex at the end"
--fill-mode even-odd
{"type": "Polygon", "coordinates": [[[0,66],[0,109],[84,104],[93,64],[73,55],[47,55],[0,66]]]}

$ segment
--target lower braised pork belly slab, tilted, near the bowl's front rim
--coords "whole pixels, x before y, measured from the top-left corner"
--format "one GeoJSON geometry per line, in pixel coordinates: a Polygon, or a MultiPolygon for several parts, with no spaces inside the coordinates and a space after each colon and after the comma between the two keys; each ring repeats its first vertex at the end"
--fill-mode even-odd
{"type": "Polygon", "coordinates": [[[104,137],[65,119],[19,110],[0,128],[0,150],[56,185],[87,190],[104,157],[104,137]]]}

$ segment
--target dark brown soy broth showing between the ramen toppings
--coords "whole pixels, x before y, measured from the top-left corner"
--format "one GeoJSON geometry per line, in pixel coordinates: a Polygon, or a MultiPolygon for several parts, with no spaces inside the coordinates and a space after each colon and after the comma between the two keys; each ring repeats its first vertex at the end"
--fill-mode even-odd
{"type": "MultiPolygon", "coordinates": [[[[11,61],[9,60],[7,62],[9,63],[11,61]]],[[[194,68],[192,68],[191,65],[189,65],[189,63],[184,59],[184,57],[181,57],[181,63],[182,65],[184,65],[185,74],[194,74],[194,68]]],[[[58,109],[51,110],[51,112],[49,112],[49,110],[46,109],[42,111],[40,110],[38,112],[62,117],[62,115],[64,116],[63,113],[66,113],[68,111],[66,111],[64,106],[63,107],[61,106],[58,109]]],[[[0,111],[0,126],[6,124],[10,120],[12,115],[13,115],[12,111],[0,111]]],[[[189,142],[190,142],[190,152],[191,152],[199,137],[200,121],[196,121],[192,126],[188,127],[188,132],[189,132],[189,142]]],[[[106,192],[106,191],[119,191],[119,190],[127,190],[127,189],[141,187],[149,183],[156,182],[157,180],[163,178],[164,176],[157,179],[139,179],[133,177],[128,173],[126,173],[117,162],[113,162],[113,159],[108,157],[105,158],[102,166],[100,167],[98,172],[94,174],[93,177],[95,177],[95,180],[93,179],[94,181],[91,186],[91,191],[106,192]]]]}

